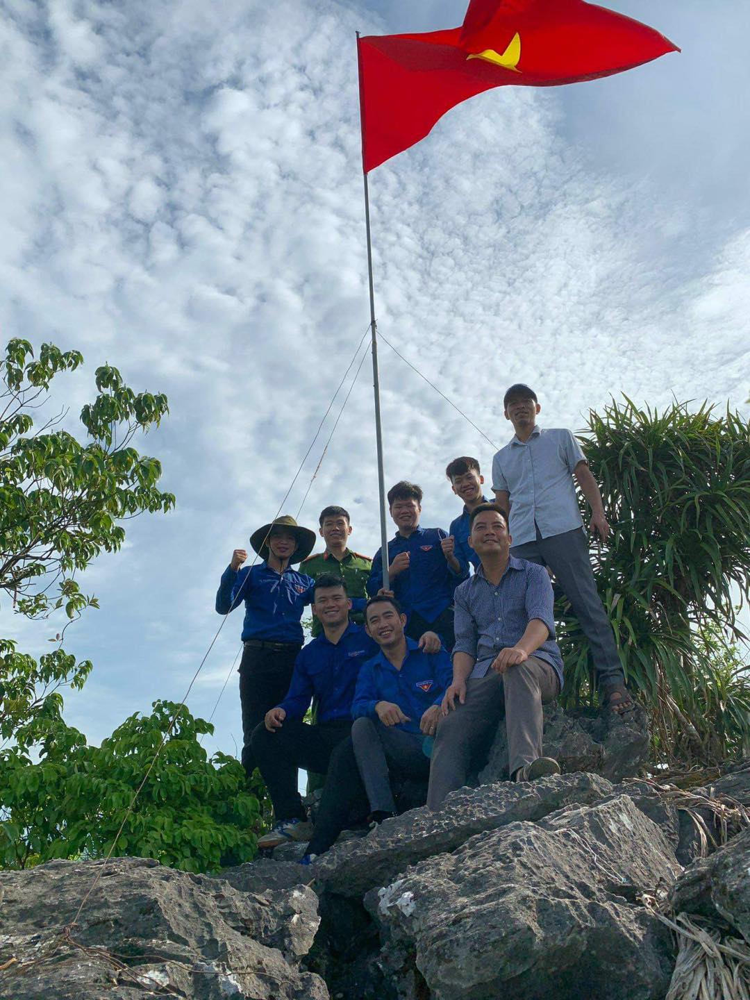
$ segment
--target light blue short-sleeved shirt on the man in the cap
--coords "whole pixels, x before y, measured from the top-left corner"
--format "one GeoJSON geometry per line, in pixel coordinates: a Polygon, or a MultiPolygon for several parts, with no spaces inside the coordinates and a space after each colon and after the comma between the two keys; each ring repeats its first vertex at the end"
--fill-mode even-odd
{"type": "Polygon", "coordinates": [[[510,494],[514,545],[573,531],[583,524],[573,470],[586,457],[570,431],[535,427],[528,441],[518,437],[492,461],[492,489],[510,494]]]}

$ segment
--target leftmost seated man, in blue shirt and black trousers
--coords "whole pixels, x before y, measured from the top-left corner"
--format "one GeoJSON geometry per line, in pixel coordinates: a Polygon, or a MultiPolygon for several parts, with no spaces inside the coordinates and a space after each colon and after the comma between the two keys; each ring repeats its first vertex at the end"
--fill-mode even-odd
{"type": "MultiPolygon", "coordinates": [[[[258,847],[309,840],[305,808],[297,789],[297,768],[325,774],[333,749],[352,727],[352,698],[362,664],[377,646],[365,630],[349,622],[352,602],[346,581],[324,573],[314,588],[313,613],[323,632],[305,646],[294,664],[284,700],[266,713],[252,736],[252,750],[273,803],[276,825],[258,847]],[[304,722],[315,697],[317,721],[304,722]]],[[[435,640],[436,643],[439,640],[435,640]]]]}

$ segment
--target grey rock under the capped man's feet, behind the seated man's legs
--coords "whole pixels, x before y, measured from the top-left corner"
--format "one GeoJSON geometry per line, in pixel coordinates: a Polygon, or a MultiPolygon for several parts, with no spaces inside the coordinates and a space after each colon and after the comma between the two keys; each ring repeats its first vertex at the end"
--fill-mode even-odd
{"type": "MultiPolygon", "coordinates": [[[[648,759],[648,716],[641,706],[623,716],[600,712],[564,712],[557,705],[544,710],[544,754],[554,757],[564,774],[587,771],[610,781],[632,778],[648,759]]],[[[479,781],[508,778],[505,725],[498,726],[479,781]]]]}

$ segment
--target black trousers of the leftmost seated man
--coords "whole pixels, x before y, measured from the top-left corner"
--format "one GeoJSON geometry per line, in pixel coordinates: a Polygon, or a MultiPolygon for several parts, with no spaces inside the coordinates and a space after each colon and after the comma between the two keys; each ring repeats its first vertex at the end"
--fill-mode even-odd
{"type": "Polygon", "coordinates": [[[285,719],[281,729],[270,733],[261,722],[252,736],[252,752],[273,802],[277,823],[285,819],[305,819],[302,796],[297,788],[297,768],[325,774],[331,754],[346,739],[351,719],[319,722],[314,726],[302,719],[285,719]]]}

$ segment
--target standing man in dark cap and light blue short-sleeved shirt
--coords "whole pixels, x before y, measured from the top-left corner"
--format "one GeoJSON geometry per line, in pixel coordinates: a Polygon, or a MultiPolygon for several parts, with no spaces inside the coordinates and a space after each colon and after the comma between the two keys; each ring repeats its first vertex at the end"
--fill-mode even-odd
{"type": "Polygon", "coordinates": [[[569,430],[536,424],[533,389],[516,384],[503,400],[513,439],[494,457],[492,489],[510,514],[512,553],[549,566],[591,644],[599,692],[613,714],[633,708],[612,627],[596,589],[574,480],[591,506],[589,530],[605,541],[610,527],[586,457],[569,430]]]}

